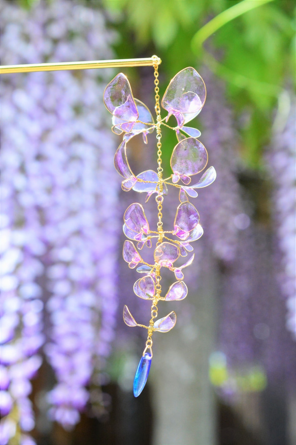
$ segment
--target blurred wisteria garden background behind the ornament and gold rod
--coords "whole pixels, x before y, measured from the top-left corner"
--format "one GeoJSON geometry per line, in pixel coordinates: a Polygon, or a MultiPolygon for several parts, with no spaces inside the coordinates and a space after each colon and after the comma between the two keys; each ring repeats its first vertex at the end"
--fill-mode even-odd
{"type": "MultiPolygon", "coordinates": [[[[143,323],[150,309],[121,255],[123,213],[144,198],[121,190],[113,165],[121,140],[103,93],[120,70],[1,76],[0,445],[296,443],[294,8],[0,0],[2,65],[157,54],[160,97],[198,70],[207,100],[190,125],[217,171],[194,200],[204,235],[188,296],[161,308],[177,325],[155,335],[135,399],[145,332],[122,308],[143,323]]],[[[122,71],[153,110],[153,68],[122,71]]],[[[162,141],[169,176],[175,136],[162,141]]],[[[155,134],[128,156],[136,174],[155,169],[155,134]]],[[[177,205],[165,198],[168,226],[177,205]]]]}

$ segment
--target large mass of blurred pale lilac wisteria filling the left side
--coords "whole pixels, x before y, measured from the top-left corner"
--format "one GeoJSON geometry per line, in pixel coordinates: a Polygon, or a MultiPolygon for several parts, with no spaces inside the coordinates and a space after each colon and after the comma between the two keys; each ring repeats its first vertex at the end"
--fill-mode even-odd
{"type": "MultiPolygon", "coordinates": [[[[112,58],[98,10],[66,0],[0,8],[4,65],[112,58]]],[[[2,77],[1,445],[35,443],[30,381],[42,345],[56,377],[51,418],[69,428],[87,403],[102,405],[117,308],[107,78],[95,70],[2,77]]]]}

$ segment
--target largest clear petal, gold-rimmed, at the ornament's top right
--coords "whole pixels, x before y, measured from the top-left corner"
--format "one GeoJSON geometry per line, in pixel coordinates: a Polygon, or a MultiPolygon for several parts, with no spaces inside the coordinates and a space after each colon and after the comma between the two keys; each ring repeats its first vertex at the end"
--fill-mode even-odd
{"type": "Polygon", "coordinates": [[[200,74],[192,67],[184,68],[170,81],[161,106],[173,114],[179,126],[197,116],[206,100],[206,87],[200,74]],[[180,114],[183,119],[181,121],[180,114]]]}

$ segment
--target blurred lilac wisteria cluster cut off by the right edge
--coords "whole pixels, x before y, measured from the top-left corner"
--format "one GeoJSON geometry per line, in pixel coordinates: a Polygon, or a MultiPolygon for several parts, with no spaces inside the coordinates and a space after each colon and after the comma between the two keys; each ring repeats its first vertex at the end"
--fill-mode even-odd
{"type": "Polygon", "coordinates": [[[283,131],[274,134],[267,162],[274,181],[273,220],[281,251],[278,280],[287,305],[287,328],[296,339],[296,99],[283,131]]]}

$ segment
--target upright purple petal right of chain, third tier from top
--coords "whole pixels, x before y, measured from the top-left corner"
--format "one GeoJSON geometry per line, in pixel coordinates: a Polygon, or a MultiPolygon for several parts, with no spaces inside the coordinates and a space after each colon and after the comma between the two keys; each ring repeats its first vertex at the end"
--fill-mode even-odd
{"type": "Polygon", "coordinates": [[[177,208],[174,221],[174,234],[178,238],[186,240],[199,221],[200,215],[195,207],[189,202],[181,203],[177,208]]]}

